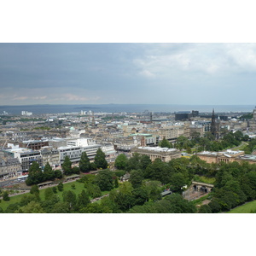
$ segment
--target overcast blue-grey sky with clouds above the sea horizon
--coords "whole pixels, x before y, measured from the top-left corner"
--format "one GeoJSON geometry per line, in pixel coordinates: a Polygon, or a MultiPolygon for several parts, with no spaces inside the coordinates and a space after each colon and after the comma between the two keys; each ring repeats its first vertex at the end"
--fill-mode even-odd
{"type": "Polygon", "coordinates": [[[256,104],[256,44],[0,44],[0,105],[256,104]]]}

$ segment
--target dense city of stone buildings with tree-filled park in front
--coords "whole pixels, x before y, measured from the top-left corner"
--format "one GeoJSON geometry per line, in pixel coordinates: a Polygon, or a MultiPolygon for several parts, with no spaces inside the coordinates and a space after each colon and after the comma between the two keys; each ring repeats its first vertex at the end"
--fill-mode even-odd
{"type": "Polygon", "coordinates": [[[256,199],[256,108],[0,118],[1,212],[213,213],[256,199]]]}

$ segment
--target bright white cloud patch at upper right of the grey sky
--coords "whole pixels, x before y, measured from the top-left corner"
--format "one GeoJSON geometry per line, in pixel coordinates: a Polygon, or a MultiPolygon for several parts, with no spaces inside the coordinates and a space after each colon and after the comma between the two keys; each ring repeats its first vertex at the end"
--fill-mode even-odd
{"type": "Polygon", "coordinates": [[[201,73],[227,76],[256,72],[255,44],[146,44],[145,55],[133,61],[146,77],[201,73]],[[170,45],[170,47],[168,47],[170,45]]]}

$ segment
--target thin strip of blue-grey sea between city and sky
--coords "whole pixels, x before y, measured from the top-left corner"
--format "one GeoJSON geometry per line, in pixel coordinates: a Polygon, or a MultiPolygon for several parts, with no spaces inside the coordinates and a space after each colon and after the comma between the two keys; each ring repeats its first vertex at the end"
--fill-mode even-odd
{"type": "Polygon", "coordinates": [[[13,114],[21,114],[21,111],[32,113],[73,113],[83,111],[108,112],[108,113],[141,113],[145,110],[149,112],[169,112],[192,111],[199,112],[252,112],[253,105],[167,105],[167,104],[102,104],[102,105],[24,105],[24,106],[0,106],[0,113],[6,111],[13,114]]]}

